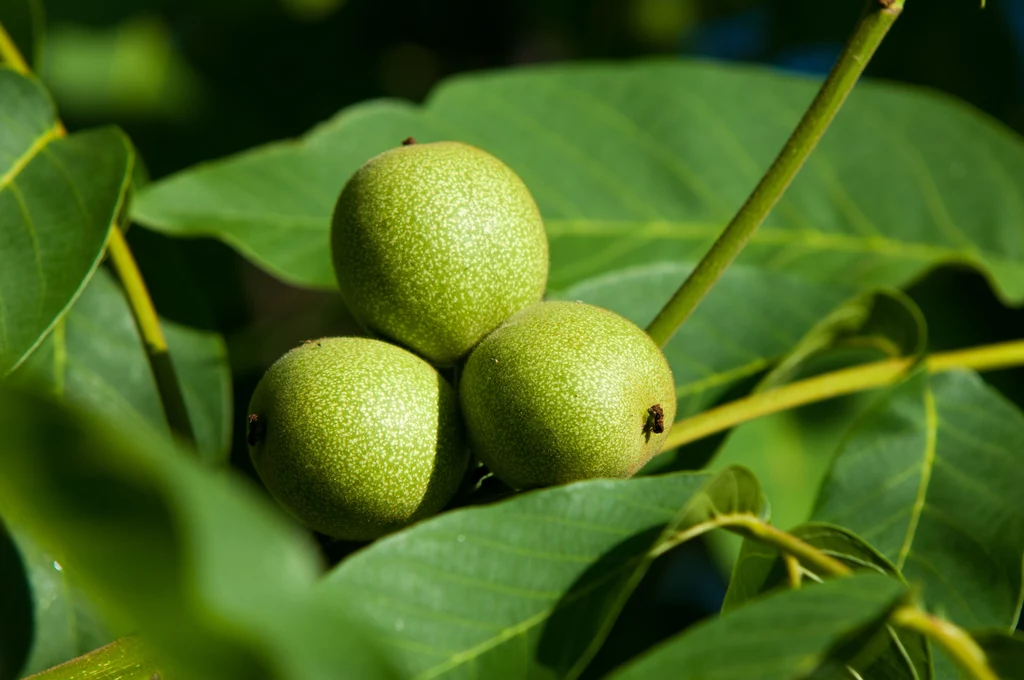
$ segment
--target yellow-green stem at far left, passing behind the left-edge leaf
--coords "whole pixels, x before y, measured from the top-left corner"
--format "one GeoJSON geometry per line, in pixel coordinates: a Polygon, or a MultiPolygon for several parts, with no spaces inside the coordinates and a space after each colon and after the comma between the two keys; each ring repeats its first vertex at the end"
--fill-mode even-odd
{"type": "MultiPolygon", "coordinates": [[[[19,74],[31,75],[29,63],[22,56],[17,45],[11,40],[2,23],[0,23],[0,59],[19,74]]],[[[56,127],[58,136],[68,134],[60,121],[56,122],[56,127]]],[[[146,355],[150,357],[150,366],[153,368],[157,390],[160,392],[160,399],[164,405],[167,423],[175,435],[189,444],[195,444],[196,437],[188,421],[188,412],[185,409],[181,385],[174,372],[174,365],[171,363],[167,338],[164,337],[164,331],[160,327],[157,308],[153,304],[153,298],[150,297],[150,292],[146,290],[142,273],[139,271],[131,249],[128,248],[128,242],[125,241],[124,233],[118,224],[111,227],[106,250],[111,256],[111,263],[124,286],[132,315],[135,317],[139,334],[145,344],[146,355]]]]}

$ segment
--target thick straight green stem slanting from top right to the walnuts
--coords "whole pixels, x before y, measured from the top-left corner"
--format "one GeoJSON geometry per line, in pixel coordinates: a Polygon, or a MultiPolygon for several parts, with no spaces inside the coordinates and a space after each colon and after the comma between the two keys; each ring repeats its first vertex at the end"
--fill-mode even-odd
{"type": "Polygon", "coordinates": [[[708,254],[647,327],[654,342],[663,347],[669,342],[778,203],[899,16],[903,2],[867,0],[857,28],[775,162],[708,254]]]}

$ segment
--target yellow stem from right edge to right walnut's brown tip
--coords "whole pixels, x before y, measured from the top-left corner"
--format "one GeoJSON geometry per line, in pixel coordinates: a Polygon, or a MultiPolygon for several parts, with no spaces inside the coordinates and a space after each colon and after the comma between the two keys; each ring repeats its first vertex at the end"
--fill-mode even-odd
{"type": "MultiPolygon", "coordinates": [[[[884,387],[903,378],[913,365],[911,358],[864,364],[730,401],[676,423],[662,450],[671,451],[762,416],[884,387]]],[[[952,369],[991,371],[1024,366],[1024,340],[932,354],[926,359],[926,366],[931,373],[952,369]]]]}

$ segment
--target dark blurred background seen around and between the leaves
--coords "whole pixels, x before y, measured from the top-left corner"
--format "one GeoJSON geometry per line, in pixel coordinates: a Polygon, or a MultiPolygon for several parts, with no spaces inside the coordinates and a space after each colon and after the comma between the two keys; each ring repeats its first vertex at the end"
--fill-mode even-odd
{"type": "MultiPolygon", "coordinates": [[[[860,5],[861,0],[47,0],[41,35],[32,34],[30,20],[11,29],[36,54],[69,128],[121,125],[156,178],[298,135],[367,98],[422,100],[439,80],[469,71],[685,56],[823,74],[860,5]]],[[[909,0],[868,76],[938,89],[1024,132],[1024,0],[990,0],[985,10],[977,0],[909,0]]],[[[216,329],[227,339],[238,424],[232,462],[248,470],[240,432],[262,372],[301,340],[354,333],[354,324],[338,296],[281,284],[219,243],[170,241],[139,228],[130,240],[161,312],[216,329]],[[197,305],[198,298],[209,308],[197,305]]],[[[940,269],[909,293],[928,320],[933,350],[1024,335],[1024,312],[1001,305],[974,271],[940,269]]],[[[988,376],[1024,406],[1022,378],[1021,371],[988,376]]],[[[757,448],[759,456],[773,461],[775,485],[791,492],[773,498],[776,523],[788,527],[813,501],[816,484],[803,482],[817,479],[863,403],[863,397],[851,397],[774,416],[730,437],[698,443],[690,460],[723,441],[722,460],[757,448]]],[[[337,558],[345,549],[334,546],[328,553],[337,558]]],[[[696,545],[659,560],[592,674],[632,654],[640,641],[646,646],[652,636],[667,636],[716,611],[724,579],[696,545]]]]}

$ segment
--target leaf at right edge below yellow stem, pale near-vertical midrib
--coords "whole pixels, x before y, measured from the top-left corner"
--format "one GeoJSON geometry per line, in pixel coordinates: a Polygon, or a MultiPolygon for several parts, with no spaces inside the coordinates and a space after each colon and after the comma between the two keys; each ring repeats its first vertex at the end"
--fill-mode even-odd
{"type": "Polygon", "coordinates": [[[1021,606],[1024,415],[977,375],[921,373],[890,390],[836,458],[814,518],[855,532],[929,606],[1010,629],[1021,606]]]}

